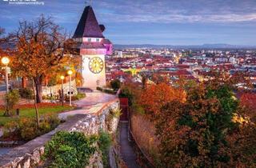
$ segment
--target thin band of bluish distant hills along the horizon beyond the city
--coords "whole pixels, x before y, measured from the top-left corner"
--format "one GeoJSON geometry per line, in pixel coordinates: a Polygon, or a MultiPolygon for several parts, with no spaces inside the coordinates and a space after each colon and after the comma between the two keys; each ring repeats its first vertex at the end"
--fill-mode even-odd
{"type": "Polygon", "coordinates": [[[256,49],[256,46],[239,46],[230,44],[203,44],[195,46],[172,46],[172,45],[153,45],[153,44],[138,44],[138,45],[120,45],[115,44],[115,49],[126,49],[126,48],[177,48],[177,49],[256,49]]]}

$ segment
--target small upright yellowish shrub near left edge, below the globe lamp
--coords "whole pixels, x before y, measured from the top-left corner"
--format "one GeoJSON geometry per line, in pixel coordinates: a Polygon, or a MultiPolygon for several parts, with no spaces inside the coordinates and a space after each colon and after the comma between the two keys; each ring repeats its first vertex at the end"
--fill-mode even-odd
{"type": "Polygon", "coordinates": [[[18,94],[18,90],[10,90],[7,94],[6,94],[6,104],[5,104],[5,115],[6,116],[11,116],[12,111],[14,106],[18,103],[19,101],[19,94],[18,94]]]}

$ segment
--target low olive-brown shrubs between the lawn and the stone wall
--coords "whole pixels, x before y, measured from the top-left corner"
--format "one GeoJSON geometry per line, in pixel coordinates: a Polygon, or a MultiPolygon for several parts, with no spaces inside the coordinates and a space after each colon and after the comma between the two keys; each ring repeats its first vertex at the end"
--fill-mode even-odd
{"type": "Polygon", "coordinates": [[[35,118],[20,118],[18,121],[7,122],[3,127],[4,137],[13,138],[20,141],[30,141],[39,135],[46,134],[54,130],[60,123],[55,114],[42,115],[39,127],[35,118]]]}

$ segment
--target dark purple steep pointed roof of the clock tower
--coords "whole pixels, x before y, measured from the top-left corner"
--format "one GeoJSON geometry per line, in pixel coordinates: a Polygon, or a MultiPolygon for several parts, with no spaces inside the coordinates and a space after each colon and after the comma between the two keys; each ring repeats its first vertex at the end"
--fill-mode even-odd
{"type": "Polygon", "coordinates": [[[83,10],[73,38],[104,38],[102,27],[98,25],[97,18],[91,6],[86,6],[83,10]]]}

